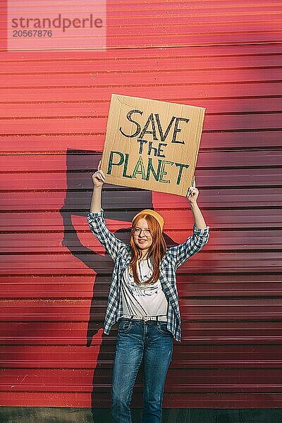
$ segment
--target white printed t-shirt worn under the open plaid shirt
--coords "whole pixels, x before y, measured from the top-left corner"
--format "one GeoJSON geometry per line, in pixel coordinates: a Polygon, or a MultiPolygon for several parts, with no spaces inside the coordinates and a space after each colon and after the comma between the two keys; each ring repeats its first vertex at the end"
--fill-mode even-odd
{"type": "Polygon", "coordinates": [[[161,282],[144,283],[153,273],[152,258],[137,261],[137,274],[142,285],[135,283],[128,264],[121,281],[123,314],[132,316],[166,315],[167,300],[161,288],[161,282]]]}

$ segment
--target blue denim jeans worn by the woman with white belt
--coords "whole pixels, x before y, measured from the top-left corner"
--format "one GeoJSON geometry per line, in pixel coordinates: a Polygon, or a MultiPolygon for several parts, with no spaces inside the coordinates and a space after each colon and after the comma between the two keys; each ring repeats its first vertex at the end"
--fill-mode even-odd
{"type": "Polygon", "coordinates": [[[132,423],[130,402],[143,360],[144,410],[142,423],[160,423],[164,382],[172,359],[173,335],[165,321],[121,318],[111,388],[111,413],[115,423],[132,423]]]}

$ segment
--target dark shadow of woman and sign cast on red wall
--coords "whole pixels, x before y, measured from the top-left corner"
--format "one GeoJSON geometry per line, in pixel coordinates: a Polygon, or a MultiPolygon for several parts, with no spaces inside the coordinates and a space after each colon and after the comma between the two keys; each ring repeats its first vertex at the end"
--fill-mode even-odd
{"type": "MultiPolygon", "coordinates": [[[[63,216],[64,225],[63,245],[67,247],[75,257],[80,259],[86,266],[93,269],[96,273],[90,306],[90,319],[87,326],[87,347],[90,347],[93,337],[99,330],[101,331],[104,324],[104,311],[106,310],[106,299],[109,293],[111,269],[109,269],[109,274],[107,270],[106,276],[99,274],[97,269],[101,269],[104,256],[98,255],[92,249],[85,247],[85,245],[80,243],[80,239],[73,227],[72,216],[84,216],[86,220],[87,213],[90,210],[93,190],[92,173],[97,170],[97,165],[100,159],[101,154],[95,154],[95,152],[92,151],[68,150],[66,155],[66,200],[61,208],[61,216],[63,216]],[[107,292],[102,295],[105,283],[108,289],[107,292]],[[100,307],[97,307],[97,305],[101,304],[101,302],[103,303],[102,309],[104,310],[102,314],[100,307]]],[[[135,216],[140,209],[153,209],[152,192],[147,190],[118,188],[115,185],[105,184],[102,193],[102,207],[105,210],[106,219],[116,220],[121,223],[130,222],[133,216],[135,216]],[[121,201],[118,201],[118,195],[114,195],[114,193],[117,193],[119,190],[122,190],[123,194],[122,204],[121,201]],[[141,202],[140,195],[142,195],[141,202]],[[138,207],[137,204],[141,204],[140,207],[138,207]]],[[[122,229],[116,231],[116,236],[123,240],[123,242],[128,243],[130,237],[129,228],[128,230],[122,229]]],[[[167,235],[164,235],[164,238],[169,247],[171,245],[175,245],[173,240],[171,240],[171,238],[167,235]]],[[[114,325],[114,327],[115,326],[116,325],[114,325]]],[[[112,330],[111,338],[114,335],[115,331],[112,330]]],[[[105,415],[101,408],[105,407],[105,404],[110,403],[111,363],[113,360],[114,344],[109,339],[109,336],[105,336],[103,333],[102,343],[97,357],[97,365],[94,367],[94,376],[92,381],[92,410],[95,417],[95,423],[96,421],[104,421],[105,415]]],[[[137,376],[137,384],[140,384],[141,381],[142,368],[137,376]]],[[[134,397],[135,395],[133,395],[133,402],[134,397]]],[[[137,406],[142,406],[142,403],[139,402],[139,404],[137,406]]],[[[106,421],[108,421],[108,419],[106,421]]]]}

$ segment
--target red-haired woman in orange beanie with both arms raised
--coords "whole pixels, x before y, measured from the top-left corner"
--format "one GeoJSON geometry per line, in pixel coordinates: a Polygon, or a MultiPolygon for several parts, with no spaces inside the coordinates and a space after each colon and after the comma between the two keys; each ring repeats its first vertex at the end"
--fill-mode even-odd
{"type": "MultiPolygon", "coordinates": [[[[100,163],[99,163],[100,166],[100,163]]],[[[109,231],[101,207],[104,172],[92,175],[94,191],[87,221],[94,235],[114,260],[104,333],[118,321],[111,388],[115,423],[131,423],[133,386],[143,362],[144,410],[142,423],[160,423],[164,383],[173,352],[173,338],[180,342],[180,311],[176,269],[200,251],[209,239],[209,226],[197,206],[195,183],[188,190],[194,216],[193,235],[183,244],[166,248],[164,219],[153,210],[142,210],[132,222],[130,245],[109,231]]]]}

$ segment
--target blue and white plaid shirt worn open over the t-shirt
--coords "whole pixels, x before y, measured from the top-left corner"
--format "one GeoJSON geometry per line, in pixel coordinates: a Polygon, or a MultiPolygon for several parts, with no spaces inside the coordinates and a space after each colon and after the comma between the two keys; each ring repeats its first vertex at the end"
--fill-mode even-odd
{"type": "MultiPolygon", "coordinates": [[[[106,316],[104,320],[104,333],[109,335],[111,326],[121,318],[123,305],[121,300],[121,278],[123,271],[130,262],[130,245],[116,238],[106,227],[104,220],[104,209],[97,213],[88,213],[87,221],[90,230],[104,246],[106,252],[114,260],[114,271],[111,277],[106,316]]],[[[160,276],[161,287],[168,300],[167,324],[168,331],[173,333],[173,338],[180,342],[180,310],[178,303],[178,292],[176,288],[176,269],[183,264],[190,256],[200,251],[209,239],[209,226],[204,229],[193,225],[193,235],[184,243],[170,247],[161,259],[160,276]]]]}

